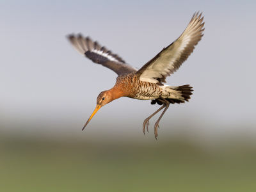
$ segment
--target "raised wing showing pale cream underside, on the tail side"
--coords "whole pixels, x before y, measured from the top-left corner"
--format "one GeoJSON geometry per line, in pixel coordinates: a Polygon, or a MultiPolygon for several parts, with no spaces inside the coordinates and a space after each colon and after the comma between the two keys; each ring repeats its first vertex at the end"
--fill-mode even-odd
{"type": "Polygon", "coordinates": [[[173,74],[180,65],[187,60],[188,56],[193,52],[195,45],[203,36],[202,23],[204,17],[201,18],[198,13],[194,14],[188,27],[180,35],[175,42],[164,48],[152,60],[148,61],[143,67],[135,73],[140,77],[141,81],[151,83],[166,83],[166,76],[173,74]]]}

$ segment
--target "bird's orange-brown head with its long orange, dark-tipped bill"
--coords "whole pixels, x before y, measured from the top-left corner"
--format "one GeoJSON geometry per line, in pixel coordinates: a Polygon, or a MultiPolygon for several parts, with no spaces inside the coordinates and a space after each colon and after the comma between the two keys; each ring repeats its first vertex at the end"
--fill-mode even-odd
{"type": "MultiPolygon", "coordinates": [[[[104,105],[108,104],[109,102],[111,102],[113,100],[112,94],[111,92],[108,91],[104,91],[99,93],[98,97],[97,97],[97,106],[94,109],[92,115],[90,116],[90,118],[88,119],[88,121],[86,122],[86,124],[84,125],[84,127],[90,122],[90,120],[93,118],[93,116],[95,115],[95,113],[97,113],[97,111],[104,105]]],[[[83,127],[83,129],[84,129],[83,127]]],[[[82,129],[82,130],[83,130],[82,129]]]]}

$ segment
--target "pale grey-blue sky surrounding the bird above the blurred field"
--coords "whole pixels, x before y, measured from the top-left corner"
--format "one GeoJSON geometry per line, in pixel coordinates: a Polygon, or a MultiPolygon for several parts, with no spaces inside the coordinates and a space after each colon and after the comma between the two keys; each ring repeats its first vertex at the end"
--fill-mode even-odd
{"type": "MultiPolygon", "coordinates": [[[[180,124],[208,134],[244,126],[255,131],[255,1],[1,1],[0,7],[3,131],[90,136],[109,129],[142,136],[143,120],[159,106],[128,98],[104,106],[81,132],[116,74],[77,54],[65,36],[90,35],[140,68],[179,37],[197,11],[205,16],[205,35],[167,79],[195,92],[190,102],[170,106],[160,131],[180,124]]],[[[152,138],[157,118],[150,121],[152,138]]]]}

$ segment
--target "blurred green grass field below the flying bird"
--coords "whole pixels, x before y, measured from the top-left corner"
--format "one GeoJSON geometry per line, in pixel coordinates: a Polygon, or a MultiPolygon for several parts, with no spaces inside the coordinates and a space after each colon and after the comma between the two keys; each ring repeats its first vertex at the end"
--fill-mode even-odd
{"type": "Polygon", "coordinates": [[[256,191],[254,147],[3,137],[0,144],[0,191],[256,191]]]}

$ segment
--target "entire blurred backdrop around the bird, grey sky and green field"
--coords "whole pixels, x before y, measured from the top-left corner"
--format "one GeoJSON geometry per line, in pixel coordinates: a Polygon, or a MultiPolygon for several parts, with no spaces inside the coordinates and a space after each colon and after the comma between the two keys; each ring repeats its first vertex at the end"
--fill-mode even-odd
{"type": "Polygon", "coordinates": [[[256,1],[0,1],[0,192],[256,191],[256,1]],[[203,12],[205,35],[166,79],[170,106],[121,98],[95,109],[116,74],[79,56],[90,35],[142,67],[203,12]]]}

